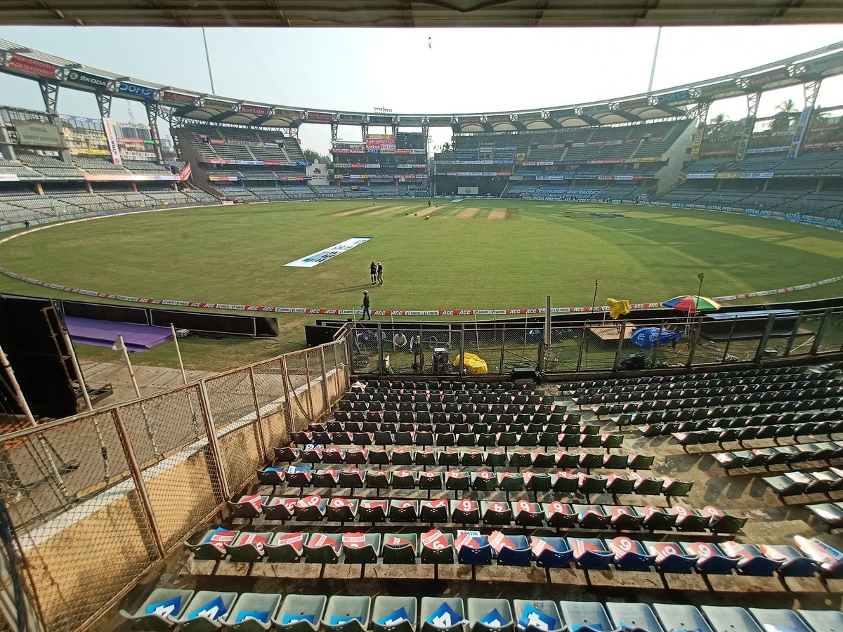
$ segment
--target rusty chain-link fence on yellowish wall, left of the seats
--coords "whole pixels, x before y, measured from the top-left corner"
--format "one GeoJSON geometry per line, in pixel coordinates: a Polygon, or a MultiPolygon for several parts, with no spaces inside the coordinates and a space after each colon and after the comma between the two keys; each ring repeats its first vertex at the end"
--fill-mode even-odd
{"type": "Polygon", "coordinates": [[[17,567],[44,628],[89,626],[348,387],[346,337],[0,437],[17,567]]]}

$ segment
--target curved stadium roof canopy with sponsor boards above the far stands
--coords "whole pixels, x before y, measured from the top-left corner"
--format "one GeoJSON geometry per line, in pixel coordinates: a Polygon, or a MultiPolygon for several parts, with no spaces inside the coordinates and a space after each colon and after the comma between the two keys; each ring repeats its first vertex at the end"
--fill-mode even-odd
{"type": "MultiPolygon", "coordinates": [[[[0,0],[3,2],[4,0],[0,0]]],[[[843,41],[722,77],[685,83],[648,94],[608,101],[556,105],[534,110],[384,114],[261,103],[126,77],[83,66],[62,57],[0,40],[0,72],[37,81],[45,94],[59,88],[83,90],[102,99],[132,99],[160,108],[162,115],[189,121],[236,126],[290,127],[303,123],[332,126],[451,127],[454,133],[549,130],[571,126],[631,123],[695,115],[701,105],[739,95],[804,84],[819,87],[824,78],[843,74],[843,41]]]]}

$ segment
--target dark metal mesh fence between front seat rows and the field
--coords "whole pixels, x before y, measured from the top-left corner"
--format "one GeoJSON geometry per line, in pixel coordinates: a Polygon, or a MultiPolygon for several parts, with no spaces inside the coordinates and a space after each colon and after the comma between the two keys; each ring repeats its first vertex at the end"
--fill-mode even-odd
{"type": "MultiPolygon", "coordinates": [[[[537,319],[445,327],[357,322],[349,344],[357,373],[460,378],[507,375],[516,368],[534,369],[552,377],[572,372],[616,372],[626,367],[728,367],[843,351],[843,309],[795,314],[720,321],[706,319],[705,315],[665,319],[644,316],[632,322],[612,320],[606,313],[598,322],[552,324],[547,337],[545,324],[537,319]],[[681,338],[639,347],[633,333],[642,327],[676,332],[681,338]],[[482,362],[476,362],[472,354],[482,362]],[[467,360],[463,362],[464,357],[467,360]]],[[[592,314],[588,318],[600,317],[592,314]]]]}

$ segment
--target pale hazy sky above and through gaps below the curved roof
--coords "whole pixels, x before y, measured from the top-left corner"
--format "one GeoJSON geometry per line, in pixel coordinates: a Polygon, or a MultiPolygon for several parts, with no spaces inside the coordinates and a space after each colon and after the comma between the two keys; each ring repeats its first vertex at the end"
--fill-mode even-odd
{"type": "MultiPolygon", "coordinates": [[[[301,108],[451,114],[523,110],[647,90],[657,29],[207,29],[216,94],[301,108]],[[431,46],[428,47],[428,38],[431,46]]],[[[200,29],[0,27],[0,38],[86,66],[210,92],[200,29]]],[[[653,88],[742,71],[843,40],[843,26],[677,27],[662,32],[653,88]]],[[[761,99],[803,106],[801,88],[761,99]]],[[[823,106],[843,105],[843,78],[827,79],[823,106]]],[[[43,109],[33,81],[0,74],[0,104],[43,109]]],[[[112,118],[129,120],[115,99],[112,118]]],[[[143,121],[137,105],[133,114],[143,121]]],[[[62,89],[62,114],[96,116],[92,94],[62,89]]],[[[712,106],[731,118],[745,99],[712,106]]],[[[359,129],[340,137],[359,140],[359,129]]],[[[304,147],[325,153],[330,130],[305,125],[304,147]]],[[[435,131],[434,142],[449,140],[435,131]]]]}

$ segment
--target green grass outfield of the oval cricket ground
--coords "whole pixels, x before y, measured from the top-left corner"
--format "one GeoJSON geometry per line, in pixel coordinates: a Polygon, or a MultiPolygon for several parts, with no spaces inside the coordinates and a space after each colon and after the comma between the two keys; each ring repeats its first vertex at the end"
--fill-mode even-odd
{"type": "MultiPolygon", "coordinates": [[[[359,308],[368,289],[373,309],[538,308],[545,294],[555,306],[590,305],[595,279],[599,304],[643,303],[696,292],[699,272],[702,293],[717,296],[843,270],[843,234],[791,222],[645,206],[436,202],[430,219],[427,200],[110,217],[15,239],[0,247],[0,265],[70,287],[212,303],[359,308]],[[373,239],[314,268],[284,266],[354,236],[373,239]],[[384,287],[369,284],[372,260],[384,263],[384,287]]],[[[786,298],[837,296],[839,285],[786,298]]],[[[0,290],[70,296],[8,277],[0,290]]],[[[279,318],[284,340],[295,342],[314,319],[279,318]]]]}

